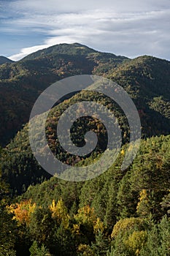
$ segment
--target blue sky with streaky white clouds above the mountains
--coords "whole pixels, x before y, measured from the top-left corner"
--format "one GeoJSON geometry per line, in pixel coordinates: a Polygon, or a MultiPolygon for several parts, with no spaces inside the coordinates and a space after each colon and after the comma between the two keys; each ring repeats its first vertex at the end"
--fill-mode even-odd
{"type": "Polygon", "coordinates": [[[0,56],[73,42],[170,60],[170,0],[0,0],[0,56]]]}

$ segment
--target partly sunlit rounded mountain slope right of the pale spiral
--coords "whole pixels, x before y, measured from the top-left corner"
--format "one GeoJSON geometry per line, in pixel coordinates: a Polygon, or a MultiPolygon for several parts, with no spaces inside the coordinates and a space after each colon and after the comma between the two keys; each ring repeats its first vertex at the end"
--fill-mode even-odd
{"type": "Polygon", "coordinates": [[[170,133],[170,61],[141,56],[111,70],[108,78],[131,95],[143,135],[170,133]]]}

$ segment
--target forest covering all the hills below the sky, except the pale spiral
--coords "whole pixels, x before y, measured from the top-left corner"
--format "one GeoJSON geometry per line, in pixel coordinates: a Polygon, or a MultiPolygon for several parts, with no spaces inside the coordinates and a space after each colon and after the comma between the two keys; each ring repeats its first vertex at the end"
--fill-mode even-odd
{"type": "Polygon", "coordinates": [[[151,56],[131,60],[77,43],[1,64],[1,256],[170,255],[169,83],[169,61],[151,56]],[[62,150],[56,129],[70,105],[100,102],[113,111],[122,132],[120,152],[106,172],[88,181],[64,181],[36,162],[27,121],[47,86],[81,74],[102,75],[128,92],[141,118],[142,140],[136,158],[122,170],[125,153],[133,146],[128,147],[131,131],[120,107],[104,94],[87,91],[62,99],[46,122],[48,144],[62,162],[89,165],[107,144],[102,123],[78,119],[72,127],[74,143],[81,146],[90,127],[98,136],[95,150],[79,159],[62,150]]]}

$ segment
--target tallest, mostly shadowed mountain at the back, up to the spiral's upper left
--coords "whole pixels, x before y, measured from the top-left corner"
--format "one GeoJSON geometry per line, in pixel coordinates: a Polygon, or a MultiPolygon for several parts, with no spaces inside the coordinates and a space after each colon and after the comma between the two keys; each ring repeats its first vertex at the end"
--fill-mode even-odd
{"type": "Polygon", "coordinates": [[[28,121],[39,94],[57,80],[80,74],[103,75],[128,58],[80,44],[55,45],[0,67],[0,145],[28,121]]]}

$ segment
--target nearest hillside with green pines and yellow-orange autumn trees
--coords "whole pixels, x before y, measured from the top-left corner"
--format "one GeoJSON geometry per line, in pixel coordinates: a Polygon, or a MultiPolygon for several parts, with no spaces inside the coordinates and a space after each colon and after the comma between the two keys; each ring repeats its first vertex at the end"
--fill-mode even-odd
{"type": "Polygon", "coordinates": [[[7,253],[169,255],[169,145],[169,135],[143,140],[128,170],[120,169],[121,151],[91,181],[53,177],[28,187],[14,203],[1,200],[7,253]]]}

